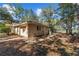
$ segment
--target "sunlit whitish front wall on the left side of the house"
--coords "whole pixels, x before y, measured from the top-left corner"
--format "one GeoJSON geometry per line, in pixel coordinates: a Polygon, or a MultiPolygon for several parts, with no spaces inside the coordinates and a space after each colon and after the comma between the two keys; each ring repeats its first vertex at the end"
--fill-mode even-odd
{"type": "Polygon", "coordinates": [[[15,26],[12,28],[12,33],[28,38],[28,26],[15,26]]]}

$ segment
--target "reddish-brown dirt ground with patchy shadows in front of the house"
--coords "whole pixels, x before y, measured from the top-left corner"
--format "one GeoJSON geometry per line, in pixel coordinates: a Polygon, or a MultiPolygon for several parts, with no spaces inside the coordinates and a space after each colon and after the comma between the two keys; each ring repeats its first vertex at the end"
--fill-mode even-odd
{"type": "MultiPolygon", "coordinates": [[[[26,38],[25,38],[26,39],[26,38]]],[[[0,40],[0,56],[78,56],[79,39],[65,33],[25,40],[0,40]]]]}

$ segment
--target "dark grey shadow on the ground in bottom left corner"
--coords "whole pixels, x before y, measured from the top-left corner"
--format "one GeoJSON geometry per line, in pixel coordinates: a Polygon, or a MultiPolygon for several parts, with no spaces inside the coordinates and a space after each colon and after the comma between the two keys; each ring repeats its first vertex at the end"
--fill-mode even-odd
{"type": "Polygon", "coordinates": [[[21,52],[12,47],[1,47],[0,48],[0,56],[25,56],[28,55],[25,52],[21,52]]]}

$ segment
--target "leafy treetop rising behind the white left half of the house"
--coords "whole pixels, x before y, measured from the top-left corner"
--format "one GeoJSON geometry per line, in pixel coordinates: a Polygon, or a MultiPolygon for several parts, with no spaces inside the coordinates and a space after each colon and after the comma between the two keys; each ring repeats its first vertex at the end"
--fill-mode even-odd
{"type": "Polygon", "coordinates": [[[29,20],[37,20],[37,16],[32,9],[24,9],[20,4],[15,4],[15,15],[20,22],[26,22],[29,20]]]}

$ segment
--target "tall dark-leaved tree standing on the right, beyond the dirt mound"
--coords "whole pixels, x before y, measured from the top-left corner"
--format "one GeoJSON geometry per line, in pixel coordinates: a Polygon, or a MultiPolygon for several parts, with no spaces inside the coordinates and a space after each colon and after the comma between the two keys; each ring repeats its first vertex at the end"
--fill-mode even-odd
{"type": "Polygon", "coordinates": [[[66,24],[66,33],[72,34],[72,23],[75,17],[75,5],[72,3],[62,3],[60,5],[61,20],[66,24]]]}

